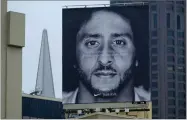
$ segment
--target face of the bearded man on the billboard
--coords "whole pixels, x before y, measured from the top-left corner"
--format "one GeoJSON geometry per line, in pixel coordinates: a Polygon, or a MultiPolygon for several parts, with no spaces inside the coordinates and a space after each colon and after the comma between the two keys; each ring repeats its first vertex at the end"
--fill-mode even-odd
{"type": "Polygon", "coordinates": [[[80,29],[76,55],[84,83],[100,93],[111,93],[126,81],[134,57],[129,22],[106,11],[96,12],[80,29]]]}

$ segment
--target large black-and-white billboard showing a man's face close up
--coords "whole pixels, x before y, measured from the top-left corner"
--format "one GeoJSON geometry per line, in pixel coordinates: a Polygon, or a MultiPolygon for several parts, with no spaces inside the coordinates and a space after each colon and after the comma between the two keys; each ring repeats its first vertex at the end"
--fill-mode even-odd
{"type": "Polygon", "coordinates": [[[148,5],[62,11],[63,104],[150,101],[148,5]]]}

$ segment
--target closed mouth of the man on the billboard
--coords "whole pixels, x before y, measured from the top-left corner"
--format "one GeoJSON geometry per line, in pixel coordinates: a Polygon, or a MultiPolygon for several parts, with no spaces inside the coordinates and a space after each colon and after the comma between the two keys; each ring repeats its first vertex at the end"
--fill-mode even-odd
{"type": "Polygon", "coordinates": [[[97,77],[113,77],[115,76],[117,73],[115,71],[112,70],[100,70],[94,73],[95,76],[97,77]]]}

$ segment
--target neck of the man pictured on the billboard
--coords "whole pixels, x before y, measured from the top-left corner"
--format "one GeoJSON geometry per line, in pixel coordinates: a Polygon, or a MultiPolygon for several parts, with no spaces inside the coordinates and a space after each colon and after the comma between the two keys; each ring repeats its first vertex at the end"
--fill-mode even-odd
{"type": "Polygon", "coordinates": [[[128,85],[126,85],[120,93],[118,93],[117,97],[114,98],[99,98],[94,97],[82,84],[79,83],[79,91],[77,95],[78,103],[95,103],[95,102],[125,102],[125,101],[133,101],[134,98],[134,88],[132,86],[132,80],[129,81],[128,85]]]}

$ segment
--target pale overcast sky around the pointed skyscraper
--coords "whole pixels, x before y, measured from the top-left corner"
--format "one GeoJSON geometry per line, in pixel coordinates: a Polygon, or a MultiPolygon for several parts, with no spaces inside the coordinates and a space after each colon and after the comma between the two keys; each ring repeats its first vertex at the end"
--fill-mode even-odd
{"type": "Polygon", "coordinates": [[[62,6],[109,4],[109,1],[8,1],[8,11],[26,15],[22,90],[35,89],[42,31],[48,31],[55,95],[62,97],[62,6]]]}

